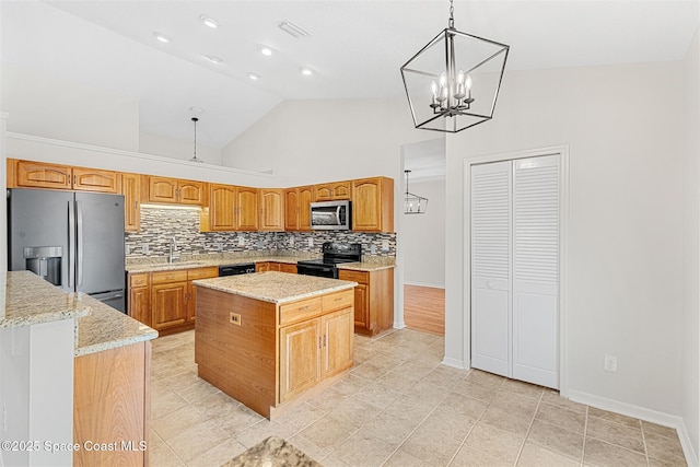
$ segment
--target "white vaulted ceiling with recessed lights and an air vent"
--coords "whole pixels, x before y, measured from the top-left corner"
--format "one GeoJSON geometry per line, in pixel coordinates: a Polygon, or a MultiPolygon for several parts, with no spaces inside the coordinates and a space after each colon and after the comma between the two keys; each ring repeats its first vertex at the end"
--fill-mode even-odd
{"type": "MultiPolygon", "coordinates": [[[[682,59],[698,5],[458,0],[454,11],[457,30],[509,44],[506,70],[524,70],[682,59]]],[[[3,62],[135,96],[147,133],[189,141],[189,108],[200,107],[199,140],[214,148],[283,100],[404,96],[400,66],[448,16],[444,0],[1,0],[1,8],[3,62]],[[220,26],[205,26],[200,14],[220,26]],[[280,31],[283,20],[311,37],[280,31]],[[171,43],[155,40],[155,31],[171,43]],[[315,74],[302,75],[302,66],[315,74]]]]}

